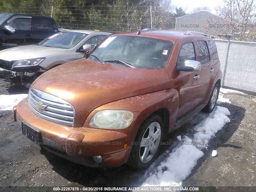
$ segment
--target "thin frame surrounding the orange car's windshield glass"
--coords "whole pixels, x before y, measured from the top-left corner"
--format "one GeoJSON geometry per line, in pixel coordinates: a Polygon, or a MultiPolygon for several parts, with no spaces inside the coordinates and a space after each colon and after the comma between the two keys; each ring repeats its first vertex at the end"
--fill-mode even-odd
{"type": "MultiPolygon", "coordinates": [[[[100,47],[100,45],[101,45],[102,43],[104,43],[108,38],[110,38],[110,37],[118,37],[118,36],[134,36],[134,37],[136,37],[137,35],[127,35],[127,34],[120,34],[120,35],[119,35],[119,33],[115,33],[115,34],[112,34],[112,35],[110,35],[110,36],[107,36],[107,37],[104,38],[100,43],[98,43],[97,46],[95,46],[92,50],[90,50],[90,51],[88,52],[88,54],[86,54],[85,58],[88,59],[88,58],[90,57],[90,55],[93,54],[94,51],[97,50],[97,49],[100,47]]],[[[156,40],[160,40],[160,41],[171,42],[171,43],[172,43],[172,48],[170,49],[170,54],[169,54],[169,56],[168,56],[168,59],[166,60],[166,65],[165,65],[164,68],[156,69],[156,68],[137,68],[137,67],[136,67],[136,69],[148,69],[148,70],[161,70],[161,69],[166,69],[166,67],[168,66],[168,64],[169,64],[169,62],[170,62],[170,58],[171,58],[171,56],[172,56],[172,52],[173,52],[173,49],[174,49],[174,46],[175,46],[176,43],[173,42],[172,40],[167,40],[167,39],[162,39],[162,38],[157,38],[157,37],[152,37],[152,36],[140,36],[140,37],[142,37],[142,38],[152,38],[152,39],[156,39],[156,40]]],[[[89,60],[90,60],[90,59],[89,59],[89,60]]],[[[97,61],[96,61],[96,62],[97,62],[97,61]]],[[[107,62],[106,62],[105,64],[110,64],[110,63],[107,63],[107,62]]]]}

